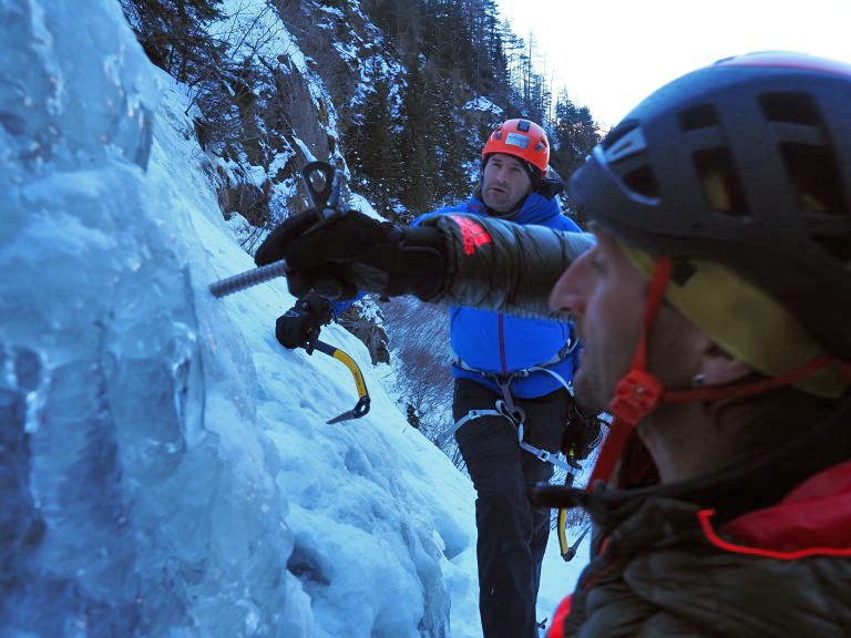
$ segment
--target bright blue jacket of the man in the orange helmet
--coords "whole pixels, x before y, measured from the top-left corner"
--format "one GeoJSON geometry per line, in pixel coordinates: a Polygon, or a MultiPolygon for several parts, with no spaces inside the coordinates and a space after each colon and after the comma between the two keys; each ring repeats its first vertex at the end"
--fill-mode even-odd
{"type": "MultiPolygon", "coordinates": [[[[486,216],[484,205],[475,197],[466,204],[447,206],[434,213],[418,217],[413,226],[434,215],[463,213],[486,216]]],[[[536,224],[560,230],[580,231],[568,217],[561,214],[558,204],[541,195],[531,194],[517,214],[511,218],[515,224],[536,224]]],[[[568,322],[546,319],[525,319],[491,310],[474,308],[450,308],[450,332],[452,350],[468,367],[483,372],[510,374],[516,370],[547,363],[558,356],[572,336],[568,322]]],[[[575,357],[578,351],[547,366],[566,381],[573,379],[575,357]]],[[[472,379],[499,391],[498,385],[481,374],[452,366],[455,379],[472,379]]],[[[561,383],[546,372],[532,372],[529,377],[515,378],[511,384],[512,394],[519,398],[543,397],[561,388],[561,383]]]]}

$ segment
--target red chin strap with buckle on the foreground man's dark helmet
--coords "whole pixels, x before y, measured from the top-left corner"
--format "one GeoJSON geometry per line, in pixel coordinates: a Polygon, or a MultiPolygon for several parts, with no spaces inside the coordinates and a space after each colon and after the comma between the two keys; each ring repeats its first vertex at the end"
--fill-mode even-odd
{"type": "Polygon", "coordinates": [[[718,399],[749,397],[760,394],[781,385],[793,383],[817,370],[828,366],[839,364],[851,378],[851,362],[834,359],[830,354],[820,354],[802,367],[780,377],[772,377],[757,383],[724,388],[706,388],[699,390],[677,390],[666,392],[662,381],[647,370],[647,340],[656,315],[665,298],[665,291],[670,280],[670,257],[657,257],[647,290],[647,302],[644,307],[644,320],[638,347],[633,357],[629,371],[617,382],[615,394],[608,404],[612,414],[608,436],[594,465],[588,484],[591,492],[597,481],[608,482],[615,465],[621,460],[635,426],[663,403],[701,403],[718,399]]]}

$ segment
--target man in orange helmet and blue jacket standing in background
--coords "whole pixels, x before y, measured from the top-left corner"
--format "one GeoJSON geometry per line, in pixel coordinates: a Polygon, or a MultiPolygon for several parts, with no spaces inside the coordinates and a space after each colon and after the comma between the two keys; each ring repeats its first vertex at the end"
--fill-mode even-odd
{"type": "MultiPolygon", "coordinates": [[[[482,151],[482,177],[473,197],[418,218],[407,233],[421,233],[432,217],[464,219],[466,250],[481,241],[478,219],[510,219],[563,231],[578,227],[561,214],[557,179],[547,179],[550,144],[544,130],[513,119],[498,126],[482,151]]],[[[271,259],[271,238],[257,253],[271,259]]],[[[335,305],[339,312],[346,305],[335,305]]],[[[278,319],[286,347],[316,338],[331,320],[332,305],[316,291],[278,319]]],[[[544,461],[563,447],[584,459],[597,432],[576,413],[567,384],[576,364],[568,320],[521,318],[458,305],[450,308],[455,354],[453,413],[461,454],[478,493],[480,611],[486,638],[534,635],[541,564],[550,512],[530,505],[527,488],[548,481],[544,461]],[[568,428],[568,424],[571,425],[568,428]],[[537,457],[536,457],[537,456],[537,457]]],[[[572,469],[570,469],[572,470],[572,469]]]]}

